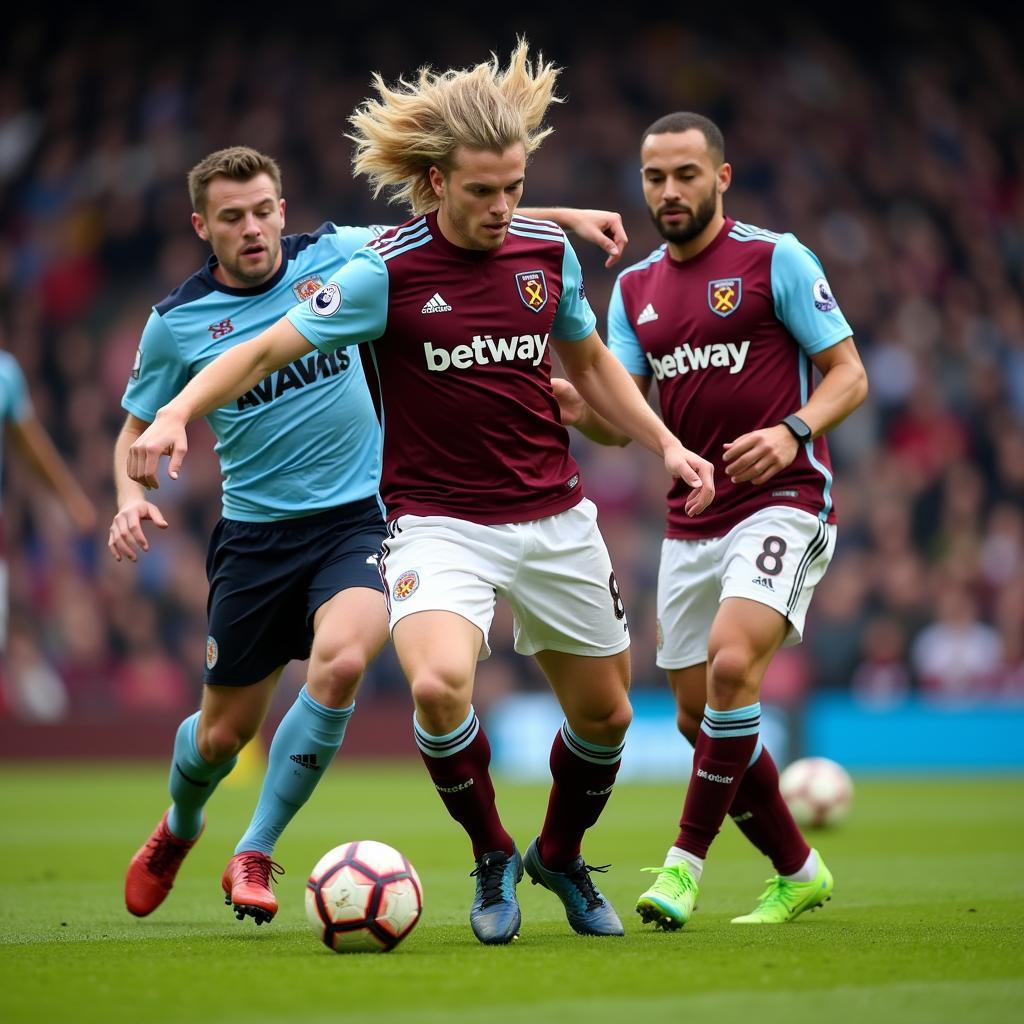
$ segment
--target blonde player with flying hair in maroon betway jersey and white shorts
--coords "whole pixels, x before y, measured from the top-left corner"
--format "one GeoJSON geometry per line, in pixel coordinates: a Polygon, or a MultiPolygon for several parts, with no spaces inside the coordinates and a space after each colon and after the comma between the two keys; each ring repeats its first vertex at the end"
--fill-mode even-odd
{"type": "Polygon", "coordinates": [[[462,71],[420,71],[351,118],[355,170],[416,216],[386,231],[307,302],[206,369],[131,446],[130,475],[153,486],[163,455],[177,474],[185,424],[274,369],[368,343],[382,410],[381,555],[395,649],[416,706],[417,746],[476,866],[470,922],[484,943],[519,932],[523,869],[562,900],[571,927],[622,935],[581,854],[614,784],[632,711],[622,595],[568,451],[551,349],[580,393],[664,458],[696,515],[711,466],[653,414],[595,331],[580,263],[554,223],[516,214],[527,157],[551,130],[557,69],[520,41],[462,71]],[[489,653],[497,595],[515,614],[565,713],[553,784],[524,856],[495,800],[490,749],[473,711],[474,668],[489,653]]]}

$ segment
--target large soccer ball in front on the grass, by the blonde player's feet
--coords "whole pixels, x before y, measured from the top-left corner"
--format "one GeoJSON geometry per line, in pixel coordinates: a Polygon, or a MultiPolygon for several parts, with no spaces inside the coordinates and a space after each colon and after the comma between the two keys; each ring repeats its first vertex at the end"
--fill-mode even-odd
{"type": "Polygon", "coordinates": [[[397,850],[373,840],[324,854],[306,883],[306,916],[337,953],[387,952],[416,927],[423,887],[397,850]]]}

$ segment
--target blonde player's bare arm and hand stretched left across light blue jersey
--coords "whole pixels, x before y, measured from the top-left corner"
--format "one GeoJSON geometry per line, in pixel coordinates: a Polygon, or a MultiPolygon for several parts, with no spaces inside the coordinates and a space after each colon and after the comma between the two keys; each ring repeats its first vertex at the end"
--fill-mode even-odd
{"type": "Polygon", "coordinates": [[[177,479],[188,452],[186,425],[245,394],[274,370],[313,350],[313,346],[283,316],[241,345],[222,352],[204,367],[166,406],[128,449],[128,476],[143,487],[159,487],[157,470],[169,457],[168,475],[177,479]]]}

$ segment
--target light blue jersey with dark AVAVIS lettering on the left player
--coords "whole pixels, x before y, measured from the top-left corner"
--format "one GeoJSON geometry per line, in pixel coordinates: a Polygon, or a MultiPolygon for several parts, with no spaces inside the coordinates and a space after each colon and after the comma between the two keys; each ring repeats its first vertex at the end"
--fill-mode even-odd
{"type": "MultiPolygon", "coordinates": [[[[254,289],[218,282],[211,256],[154,307],[124,409],[152,421],[203,367],[316,293],[377,233],[327,223],[286,236],[280,269],[254,289]]],[[[217,437],[225,518],[294,518],[377,493],[380,424],[359,359],[347,352],[296,359],[207,420],[217,437]]]]}

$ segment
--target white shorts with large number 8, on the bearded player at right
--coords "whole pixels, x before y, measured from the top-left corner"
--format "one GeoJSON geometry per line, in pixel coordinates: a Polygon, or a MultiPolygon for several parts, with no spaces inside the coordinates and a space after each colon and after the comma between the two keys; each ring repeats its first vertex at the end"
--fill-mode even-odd
{"type": "Polygon", "coordinates": [[[800,643],[811,595],[836,550],[836,526],[776,505],[725,537],[662,543],[657,573],[657,666],[708,660],[708,636],[727,597],[774,608],[790,623],[783,647],[800,643]]]}

